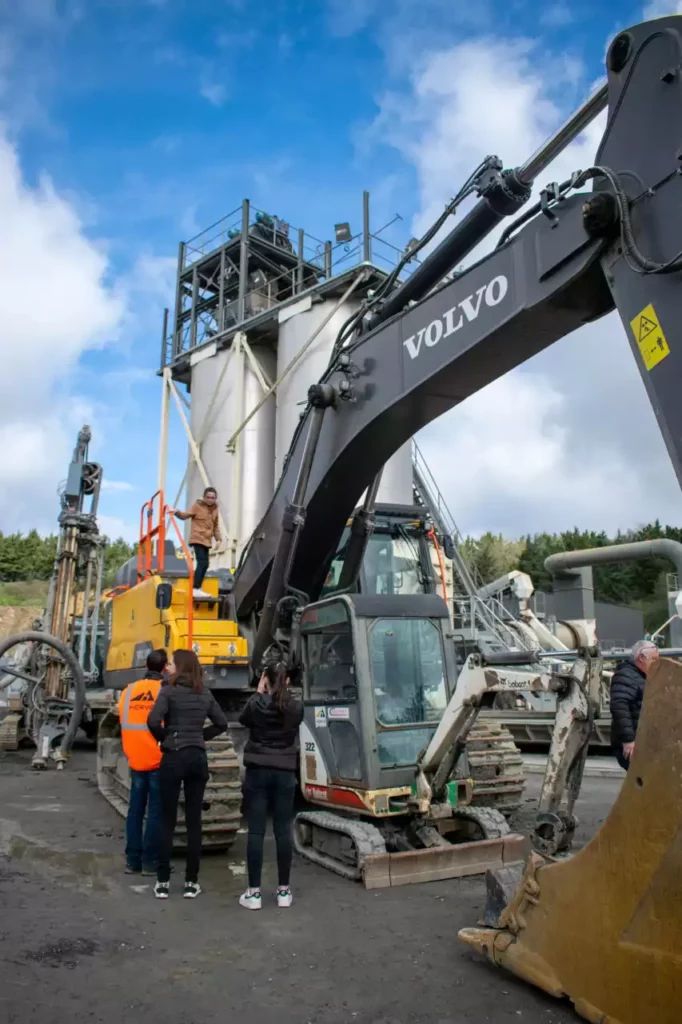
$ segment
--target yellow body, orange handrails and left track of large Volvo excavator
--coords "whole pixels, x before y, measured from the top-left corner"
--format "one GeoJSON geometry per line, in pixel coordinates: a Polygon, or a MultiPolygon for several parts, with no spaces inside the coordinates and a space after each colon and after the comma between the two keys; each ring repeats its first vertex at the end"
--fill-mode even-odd
{"type": "MultiPolygon", "coordinates": [[[[207,685],[214,691],[240,694],[247,688],[248,644],[239,635],[228,613],[231,574],[210,578],[204,590],[208,599],[193,597],[189,552],[178,532],[182,558],[166,540],[168,510],[163,495],[155,495],[142,508],[139,552],[122,566],[117,586],[104,609],[104,686],[119,692],[145,673],[150,651],[164,648],[191,649],[198,655],[207,685]],[[157,517],[156,525],[154,523],[157,517]]],[[[172,520],[175,528],[175,520],[172,520]]],[[[241,820],[240,764],[231,738],[220,737],[207,744],[210,779],[206,788],[203,818],[205,847],[226,850],[233,843],[241,820]]],[[[102,796],[125,815],[130,797],[130,771],[123,754],[118,711],[113,708],[99,726],[97,785],[102,796]]],[[[182,803],[175,845],[184,844],[182,803]]]]}

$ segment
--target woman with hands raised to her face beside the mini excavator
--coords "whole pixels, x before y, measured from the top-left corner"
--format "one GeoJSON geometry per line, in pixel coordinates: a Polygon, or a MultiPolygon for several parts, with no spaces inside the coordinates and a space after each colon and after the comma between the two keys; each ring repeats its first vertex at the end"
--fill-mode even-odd
{"type": "Polygon", "coordinates": [[[258,690],[240,716],[249,730],[244,748],[244,805],[249,826],[247,868],[249,888],[240,897],[247,910],[260,910],[260,877],[268,811],[278,850],[278,906],[289,907],[292,861],[292,820],[298,766],[298,728],[303,706],[289,688],[286,666],[268,666],[258,690]]]}

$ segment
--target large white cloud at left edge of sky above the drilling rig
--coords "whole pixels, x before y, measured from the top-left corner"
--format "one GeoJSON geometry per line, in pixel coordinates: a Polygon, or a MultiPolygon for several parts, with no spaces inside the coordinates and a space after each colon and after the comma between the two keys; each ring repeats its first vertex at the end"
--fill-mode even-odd
{"type": "Polygon", "coordinates": [[[29,186],[2,133],[0,223],[0,529],[53,529],[57,484],[93,417],[69,376],[117,335],[125,303],[73,204],[44,175],[29,186]]]}

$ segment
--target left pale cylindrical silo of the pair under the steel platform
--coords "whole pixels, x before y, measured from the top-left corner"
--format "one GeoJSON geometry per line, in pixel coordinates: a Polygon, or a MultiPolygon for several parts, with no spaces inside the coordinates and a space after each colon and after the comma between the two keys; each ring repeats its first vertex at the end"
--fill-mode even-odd
{"type": "MultiPolygon", "coordinates": [[[[276,370],[274,352],[255,343],[251,344],[251,350],[265,378],[272,382],[276,370]]],[[[214,568],[237,565],[274,488],[274,396],[267,399],[242,431],[236,454],[226,449],[238,426],[263,397],[263,389],[246,353],[242,350],[230,357],[230,351],[225,348],[200,357],[191,368],[191,432],[200,444],[211,486],[218,492],[227,530],[226,550],[221,556],[214,556],[214,568]]],[[[204,480],[193,461],[187,477],[187,507],[203,492],[204,480]]]]}

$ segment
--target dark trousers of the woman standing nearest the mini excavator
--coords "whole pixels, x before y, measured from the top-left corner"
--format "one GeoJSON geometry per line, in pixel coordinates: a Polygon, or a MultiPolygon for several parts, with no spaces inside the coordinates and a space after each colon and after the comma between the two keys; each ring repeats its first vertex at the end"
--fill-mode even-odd
{"type": "Polygon", "coordinates": [[[296,772],[248,766],[244,778],[244,808],[249,826],[247,868],[250,889],[260,889],[268,812],[272,815],[272,830],[278,848],[278,882],[280,886],[289,885],[295,796],[296,772]]]}

